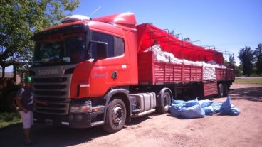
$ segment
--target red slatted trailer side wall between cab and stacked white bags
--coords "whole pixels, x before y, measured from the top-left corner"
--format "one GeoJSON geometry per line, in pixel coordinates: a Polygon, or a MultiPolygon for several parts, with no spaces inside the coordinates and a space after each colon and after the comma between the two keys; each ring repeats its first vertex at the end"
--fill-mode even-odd
{"type": "Polygon", "coordinates": [[[202,67],[155,62],[152,52],[139,55],[138,69],[140,84],[201,82],[203,80],[202,67]]]}

